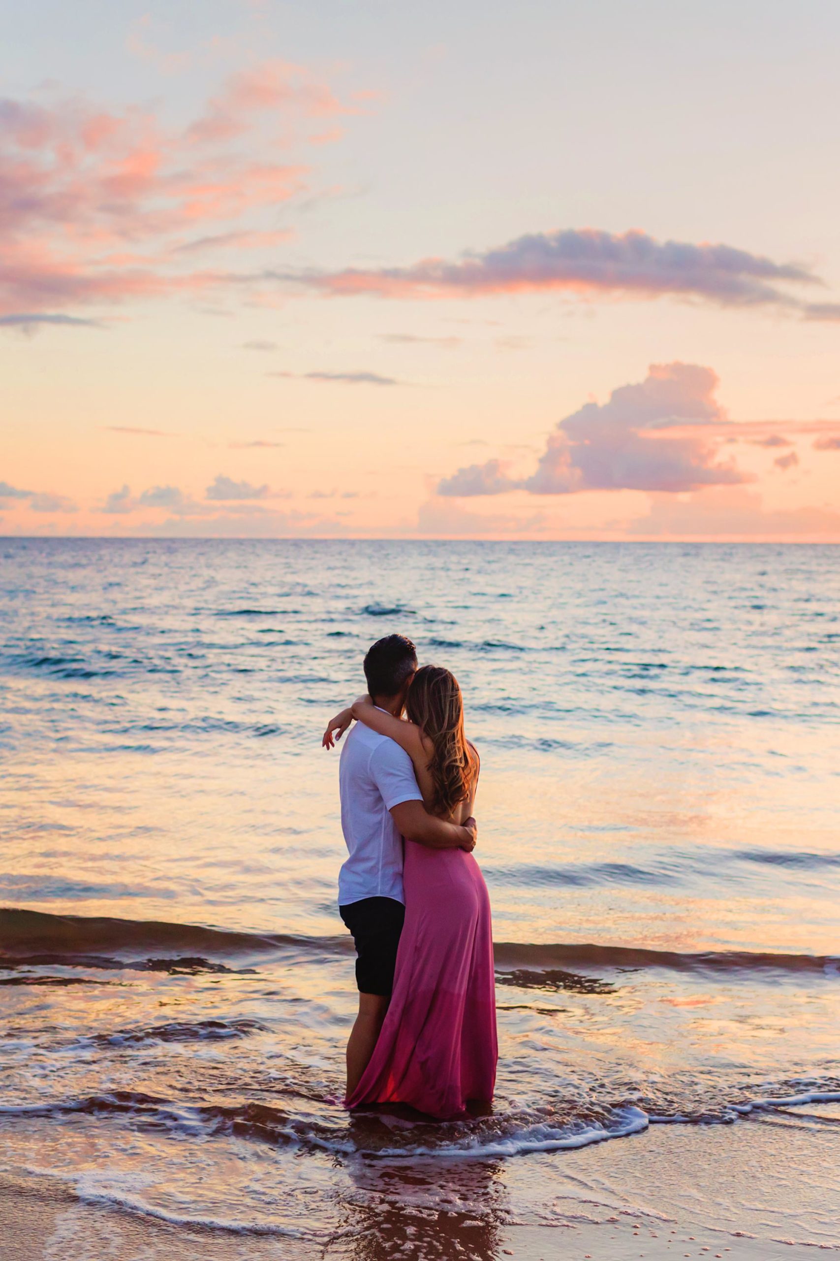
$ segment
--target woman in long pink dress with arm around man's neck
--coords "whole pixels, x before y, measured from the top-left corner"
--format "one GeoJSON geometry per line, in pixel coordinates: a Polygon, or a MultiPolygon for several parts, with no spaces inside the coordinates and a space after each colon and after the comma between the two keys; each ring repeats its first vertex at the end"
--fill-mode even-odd
{"type": "MultiPolygon", "coordinates": [[[[402,745],[414,763],[426,808],[456,823],[472,813],[479,754],[463,734],[457,680],[440,666],[417,671],[408,721],[363,696],[326,730],[358,719],[402,745]]],[[[409,1103],[440,1120],[489,1102],[496,1076],[496,1006],[490,898],[479,864],[463,850],[406,842],[406,923],[394,989],[373,1058],[345,1100],[350,1108],[409,1103]]]]}

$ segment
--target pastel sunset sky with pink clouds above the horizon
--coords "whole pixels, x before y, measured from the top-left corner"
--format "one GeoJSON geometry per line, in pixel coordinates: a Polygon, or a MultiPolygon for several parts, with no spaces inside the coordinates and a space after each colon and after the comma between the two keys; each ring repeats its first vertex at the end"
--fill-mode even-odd
{"type": "Polygon", "coordinates": [[[840,541],[840,6],[0,0],[0,532],[840,541]]]}

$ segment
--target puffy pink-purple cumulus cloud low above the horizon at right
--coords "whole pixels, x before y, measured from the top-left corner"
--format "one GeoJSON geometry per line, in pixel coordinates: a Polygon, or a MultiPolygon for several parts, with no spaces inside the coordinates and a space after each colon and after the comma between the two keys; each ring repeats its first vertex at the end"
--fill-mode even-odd
{"type": "Polygon", "coordinates": [[[714,397],[717,386],[710,368],[651,364],[645,381],[620,386],[607,402],[584,404],[562,420],[530,477],[514,479],[500,460],[487,460],[458,469],[441,482],[438,494],[676,493],[746,482],[732,464],[719,463],[718,441],[704,433],[727,421],[714,397]]]}

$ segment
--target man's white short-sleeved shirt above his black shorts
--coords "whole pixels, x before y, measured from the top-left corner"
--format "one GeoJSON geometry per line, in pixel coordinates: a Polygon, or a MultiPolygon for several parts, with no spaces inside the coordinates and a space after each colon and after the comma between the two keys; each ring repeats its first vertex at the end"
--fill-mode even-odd
{"type": "Polygon", "coordinates": [[[403,897],[403,839],[389,811],[422,801],[412,759],[387,735],[356,723],[339,763],[341,831],[349,855],[339,873],[339,905],[403,897]]]}

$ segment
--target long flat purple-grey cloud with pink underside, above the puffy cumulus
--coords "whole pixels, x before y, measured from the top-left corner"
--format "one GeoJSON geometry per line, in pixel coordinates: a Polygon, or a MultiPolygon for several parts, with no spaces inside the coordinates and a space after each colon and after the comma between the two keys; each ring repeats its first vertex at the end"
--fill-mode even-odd
{"type": "Polygon", "coordinates": [[[815,285],[798,264],[778,264],[728,245],[656,241],[645,232],[594,228],[533,232],[456,261],[423,259],[408,267],[345,269],[290,275],[325,294],[369,294],[392,299],[484,298],[564,290],[572,294],[699,298],[724,306],[776,306],[831,318],[780,284],[815,285]]]}

